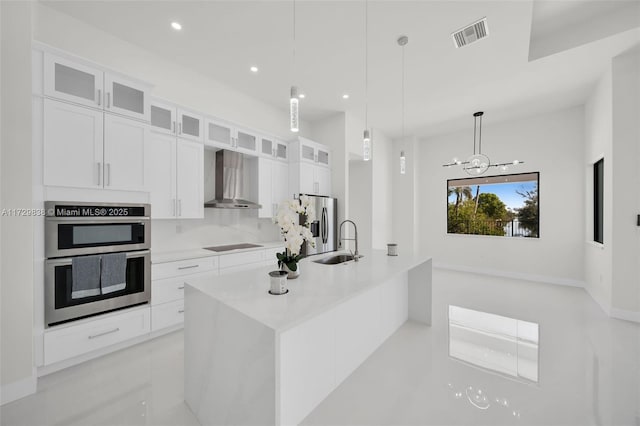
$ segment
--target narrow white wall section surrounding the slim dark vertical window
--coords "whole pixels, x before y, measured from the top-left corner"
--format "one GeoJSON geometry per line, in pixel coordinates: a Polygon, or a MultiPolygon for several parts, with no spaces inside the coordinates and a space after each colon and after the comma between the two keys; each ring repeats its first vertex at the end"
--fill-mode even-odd
{"type": "Polygon", "coordinates": [[[585,105],[585,288],[608,313],[612,276],[612,75],[608,67],[585,105]],[[593,164],[604,158],[604,244],[593,242],[593,164]]]}

